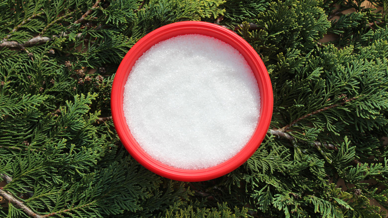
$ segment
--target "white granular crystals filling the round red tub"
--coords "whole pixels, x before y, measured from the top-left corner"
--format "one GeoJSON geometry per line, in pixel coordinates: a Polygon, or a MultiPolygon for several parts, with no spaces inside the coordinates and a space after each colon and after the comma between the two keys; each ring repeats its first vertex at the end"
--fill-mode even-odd
{"type": "Polygon", "coordinates": [[[203,169],[228,160],[248,142],[260,95],[236,49],[190,34],[162,41],[136,61],[123,108],[145,152],[175,168],[203,169]]]}

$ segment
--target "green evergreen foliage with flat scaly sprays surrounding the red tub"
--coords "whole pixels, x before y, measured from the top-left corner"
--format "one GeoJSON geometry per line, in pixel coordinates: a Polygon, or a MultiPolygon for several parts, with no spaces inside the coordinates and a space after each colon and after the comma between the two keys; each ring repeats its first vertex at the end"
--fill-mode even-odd
{"type": "Polygon", "coordinates": [[[383,9],[365,0],[1,1],[0,217],[386,217],[388,3],[370,2],[383,9]],[[139,165],[110,116],[126,52],[183,20],[240,34],[274,89],[257,152],[197,183],[139,165]],[[326,34],[335,39],[323,43],[326,34]]]}

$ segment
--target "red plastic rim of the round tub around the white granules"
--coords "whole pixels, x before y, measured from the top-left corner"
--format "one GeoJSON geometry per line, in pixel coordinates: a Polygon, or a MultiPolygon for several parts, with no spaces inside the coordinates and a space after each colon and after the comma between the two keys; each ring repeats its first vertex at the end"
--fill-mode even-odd
{"type": "Polygon", "coordinates": [[[128,152],[150,171],[169,179],[186,182],[204,181],[223,176],[247,161],[257,150],[267,133],[271,122],[273,103],[272,85],[268,71],[252,46],[231,30],[219,25],[201,21],[172,23],[160,27],[141,38],[128,51],[117,69],[113,80],[110,102],[114,127],[128,152]],[[257,79],[261,101],[258,125],[248,143],[227,161],[213,167],[199,170],[174,168],[152,158],[133,138],[131,130],[126,123],[123,110],[124,86],[137,59],[158,42],[186,34],[201,34],[214,37],[237,49],[243,55],[257,79]]]}

